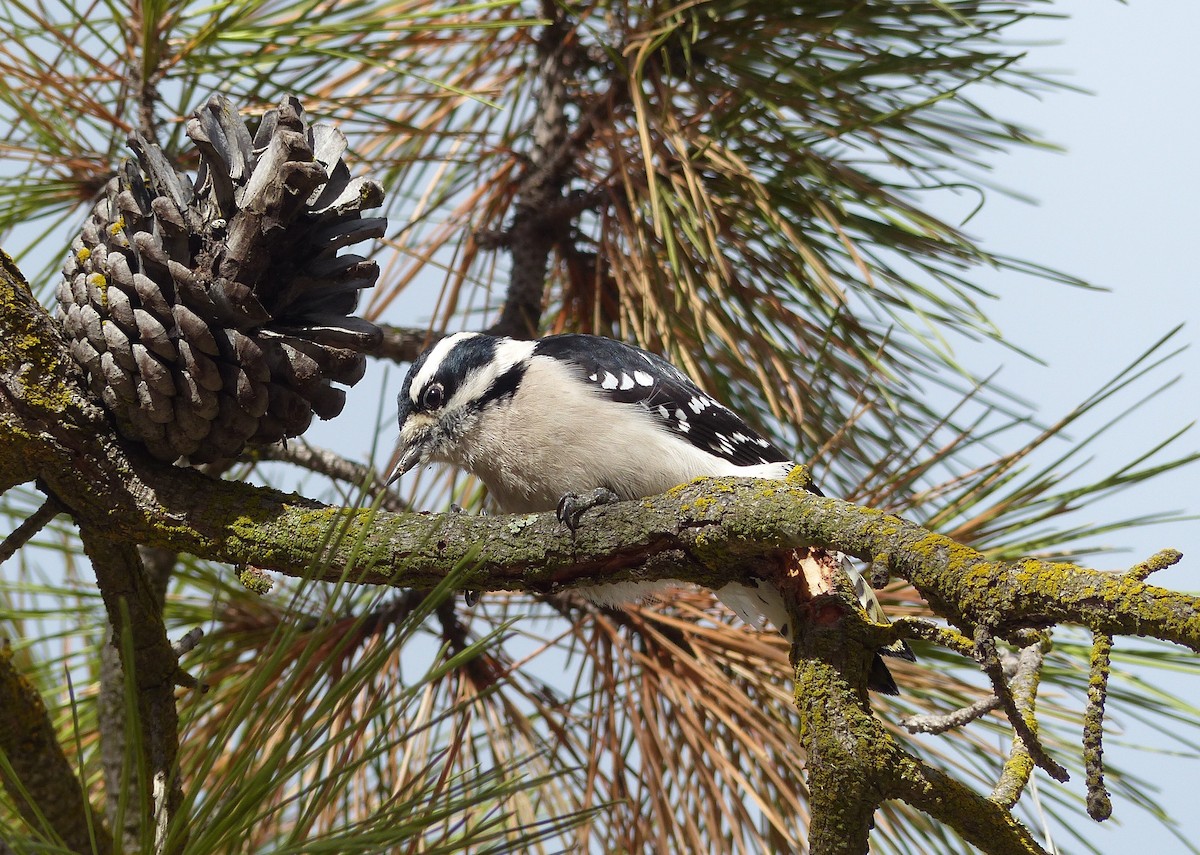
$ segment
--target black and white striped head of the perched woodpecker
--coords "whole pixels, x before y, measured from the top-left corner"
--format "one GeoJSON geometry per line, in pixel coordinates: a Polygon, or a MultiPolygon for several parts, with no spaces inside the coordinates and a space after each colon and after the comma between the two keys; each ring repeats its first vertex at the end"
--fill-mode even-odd
{"type": "Polygon", "coordinates": [[[389,482],[425,462],[457,462],[468,431],[488,407],[516,394],[532,341],[455,333],[418,357],[397,397],[398,459],[389,482]]]}

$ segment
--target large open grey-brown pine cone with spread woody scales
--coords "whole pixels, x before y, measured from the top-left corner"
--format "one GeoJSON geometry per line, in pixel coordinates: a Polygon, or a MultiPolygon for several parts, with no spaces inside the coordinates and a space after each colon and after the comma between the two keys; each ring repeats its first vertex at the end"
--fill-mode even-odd
{"type": "Polygon", "coordinates": [[[379,185],[350,178],[346,137],[284,98],[252,138],[221,96],[187,122],[194,184],[133,134],[59,286],[71,353],[128,438],[161,460],[228,460],[342,411],[379,329],[352,317],[378,265],[343,246],[379,185]]]}

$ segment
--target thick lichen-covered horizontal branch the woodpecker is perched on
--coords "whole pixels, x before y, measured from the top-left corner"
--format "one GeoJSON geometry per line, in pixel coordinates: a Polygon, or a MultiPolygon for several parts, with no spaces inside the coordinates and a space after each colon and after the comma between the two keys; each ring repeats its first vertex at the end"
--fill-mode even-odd
{"type": "Polygon", "coordinates": [[[353,564],[361,581],[401,587],[431,587],[448,567],[470,563],[467,587],[545,592],[620,579],[713,585],[748,574],[764,554],[805,545],[856,556],[887,550],[896,575],[968,629],[1000,624],[1012,632],[1073,622],[1200,651],[1195,597],[1073,564],[989,562],[898,516],[785,483],[697,482],[593,512],[588,519],[595,524],[572,537],[553,514],[481,518],[329,508],[158,464],[95,430],[64,429],[71,419],[58,414],[40,421],[43,431],[17,437],[5,455],[19,455],[34,468],[30,477],[41,476],[78,519],[131,542],[218,561],[305,576],[320,555],[320,578],[337,579],[353,564]],[[86,460],[88,468],[76,460],[86,460]],[[330,531],[342,537],[330,542],[330,531]]]}

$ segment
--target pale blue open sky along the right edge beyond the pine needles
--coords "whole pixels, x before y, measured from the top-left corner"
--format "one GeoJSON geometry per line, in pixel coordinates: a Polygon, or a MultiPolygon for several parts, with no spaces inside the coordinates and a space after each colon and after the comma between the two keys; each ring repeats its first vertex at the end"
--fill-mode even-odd
{"type": "MultiPolygon", "coordinates": [[[[1006,358],[1002,382],[1054,415],[1097,388],[1177,323],[1189,349],[1160,372],[1182,372],[1166,395],[1146,405],[1097,444],[1099,465],[1120,465],[1135,449],[1200,417],[1200,282],[1194,269],[1200,243],[1200,169],[1196,145],[1200,119],[1196,97],[1200,54],[1200,4],[1182,0],[1064,0],[1056,11],[1066,22],[1036,22],[1020,31],[1031,40],[1060,44],[1031,46],[1028,65],[1070,72],[1069,80],[1093,95],[1056,92],[1040,101],[985,98],[1003,114],[1020,119],[1063,145],[1064,154],[1022,151],[997,161],[998,184],[1038,199],[1036,207],[994,195],[968,225],[995,250],[1030,258],[1111,289],[1080,293],[1018,277],[985,277],[1003,299],[992,317],[1015,341],[1048,365],[1006,358]]],[[[980,352],[984,361],[991,363],[980,352]]],[[[1148,387],[1147,387],[1148,388],[1148,387]]],[[[1127,406],[1134,396],[1122,399],[1127,406]]],[[[1200,431],[1178,447],[1200,448],[1200,431]]],[[[1200,466],[1166,474],[1098,506],[1111,516],[1182,509],[1200,514],[1200,466]]],[[[1099,515],[1099,513],[1097,514],[1099,515]]],[[[1184,552],[1182,564],[1157,580],[1171,587],[1200,590],[1200,522],[1121,532],[1114,545],[1128,546],[1109,564],[1146,557],[1164,546],[1184,552]]],[[[1120,644],[1120,641],[1118,641],[1120,644]]],[[[1178,694],[1200,704],[1200,678],[1178,680],[1178,694]]],[[[1134,729],[1130,741],[1156,739],[1134,729]]],[[[1200,842],[1196,773],[1200,761],[1138,755],[1110,740],[1108,757],[1158,782],[1163,803],[1178,818],[1184,836],[1200,842]]],[[[1082,793],[1082,782],[1072,787],[1082,793]]],[[[1180,843],[1157,823],[1117,802],[1123,827],[1088,837],[1103,851],[1174,853],[1180,843]]],[[[1068,850],[1073,847],[1062,841],[1068,850]]]]}

